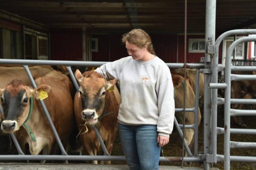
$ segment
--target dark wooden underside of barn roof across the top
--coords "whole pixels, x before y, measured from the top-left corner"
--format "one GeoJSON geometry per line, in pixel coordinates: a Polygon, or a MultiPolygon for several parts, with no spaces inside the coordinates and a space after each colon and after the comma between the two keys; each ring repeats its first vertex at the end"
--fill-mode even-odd
{"type": "MultiPolygon", "coordinates": [[[[183,33],[184,0],[0,0],[0,9],[49,28],[183,33]]],[[[216,31],[256,28],[256,0],[216,0],[216,31]]],[[[188,0],[188,33],[205,32],[205,0],[188,0]]],[[[0,15],[1,17],[1,15],[0,15]]]]}

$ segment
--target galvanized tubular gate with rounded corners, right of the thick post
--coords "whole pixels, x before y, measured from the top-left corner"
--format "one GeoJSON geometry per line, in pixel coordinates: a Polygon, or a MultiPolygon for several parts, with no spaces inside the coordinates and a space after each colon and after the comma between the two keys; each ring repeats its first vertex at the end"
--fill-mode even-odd
{"type": "Polygon", "coordinates": [[[218,49],[219,45],[225,37],[230,35],[248,35],[256,34],[256,30],[231,30],[223,33],[215,42],[215,55],[213,57],[212,68],[212,83],[209,83],[209,88],[212,89],[211,96],[211,153],[206,154],[206,163],[216,163],[224,161],[224,169],[230,170],[230,161],[246,161],[256,162],[256,157],[248,156],[230,156],[230,148],[255,148],[256,143],[252,142],[234,142],[230,141],[230,134],[256,134],[256,129],[231,129],[230,116],[252,116],[256,115],[255,110],[238,110],[231,109],[230,104],[256,104],[256,99],[231,99],[231,81],[240,80],[256,80],[256,75],[239,75],[231,74],[231,71],[255,71],[254,66],[231,66],[231,55],[235,48],[240,43],[248,41],[256,41],[256,36],[243,37],[234,41],[227,50],[226,65],[217,66],[218,64],[218,49]],[[225,82],[217,83],[218,71],[225,70],[225,82]],[[217,89],[225,89],[225,98],[217,98],[217,89]],[[217,127],[217,105],[224,104],[224,128],[217,127]],[[224,134],[224,155],[217,154],[217,135],[224,134]]]}

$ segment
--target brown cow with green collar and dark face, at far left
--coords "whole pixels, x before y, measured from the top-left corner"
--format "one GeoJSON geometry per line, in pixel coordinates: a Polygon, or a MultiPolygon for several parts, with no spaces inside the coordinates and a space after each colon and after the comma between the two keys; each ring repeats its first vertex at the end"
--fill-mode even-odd
{"type": "Polygon", "coordinates": [[[37,89],[24,85],[23,81],[18,79],[11,81],[5,89],[0,89],[1,105],[4,110],[1,129],[5,133],[15,132],[23,152],[25,144],[28,144],[32,155],[38,155],[41,150],[44,154],[50,154],[56,139],[37,99],[41,90],[48,93],[44,103],[65,147],[74,126],[73,101],[70,94],[72,84],[66,75],[55,70],[35,81],[37,89]],[[28,118],[30,110],[30,98],[33,100],[33,107],[26,126],[32,131],[36,141],[32,140],[24,128],[24,121],[28,118]]]}

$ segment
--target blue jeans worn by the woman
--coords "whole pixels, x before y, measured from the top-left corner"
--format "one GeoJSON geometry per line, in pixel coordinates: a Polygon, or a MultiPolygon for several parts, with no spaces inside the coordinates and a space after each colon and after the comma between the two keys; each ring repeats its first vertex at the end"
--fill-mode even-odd
{"type": "Polygon", "coordinates": [[[159,170],[161,147],[156,125],[129,126],[118,123],[122,150],[130,170],[159,170]]]}

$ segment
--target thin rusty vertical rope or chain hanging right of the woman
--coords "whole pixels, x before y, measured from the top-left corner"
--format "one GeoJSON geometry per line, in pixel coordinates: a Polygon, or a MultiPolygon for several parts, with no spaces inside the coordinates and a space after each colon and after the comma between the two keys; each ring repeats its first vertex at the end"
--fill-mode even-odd
{"type": "Polygon", "coordinates": [[[184,14],[184,83],[183,83],[183,143],[182,143],[182,160],[181,168],[184,165],[184,143],[185,143],[185,108],[186,108],[186,31],[187,31],[187,0],[185,0],[185,14],[184,14]]]}

